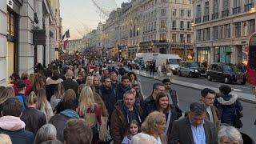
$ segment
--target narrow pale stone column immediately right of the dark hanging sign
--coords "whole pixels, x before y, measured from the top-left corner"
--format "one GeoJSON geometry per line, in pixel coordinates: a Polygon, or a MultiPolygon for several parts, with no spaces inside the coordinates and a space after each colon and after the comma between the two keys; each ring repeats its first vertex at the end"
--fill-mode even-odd
{"type": "Polygon", "coordinates": [[[50,62],[50,27],[49,27],[49,14],[44,16],[45,19],[45,26],[46,26],[46,66],[50,62]]]}

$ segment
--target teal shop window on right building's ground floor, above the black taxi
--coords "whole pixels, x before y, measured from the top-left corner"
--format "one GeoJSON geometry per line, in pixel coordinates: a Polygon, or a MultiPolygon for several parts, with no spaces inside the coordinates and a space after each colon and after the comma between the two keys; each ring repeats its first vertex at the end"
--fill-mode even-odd
{"type": "Polygon", "coordinates": [[[230,63],[231,47],[219,46],[214,47],[214,62],[230,63]]]}

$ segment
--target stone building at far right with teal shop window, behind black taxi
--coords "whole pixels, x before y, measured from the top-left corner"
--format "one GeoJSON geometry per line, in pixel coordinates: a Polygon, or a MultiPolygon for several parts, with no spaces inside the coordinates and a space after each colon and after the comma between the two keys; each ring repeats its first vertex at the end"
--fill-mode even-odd
{"type": "Polygon", "coordinates": [[[195,58],[199,62],[246,63],[255,32],[254,0],[195,0],[195,58]]]}

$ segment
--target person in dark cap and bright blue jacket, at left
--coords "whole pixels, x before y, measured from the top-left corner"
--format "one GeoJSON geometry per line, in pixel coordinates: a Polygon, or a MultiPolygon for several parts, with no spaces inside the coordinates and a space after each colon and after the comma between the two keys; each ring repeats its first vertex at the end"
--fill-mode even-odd
{"type": "Polygon", "coordinates": [[[22,103],[22,111],[26,110],[26,98],[25,98],[25,90],[26,90],[26,84],[23,81],[19,81],[16,84],[17,88],[18,88],[18,94],[15,96],[15,98],[18,99],[19,102],[22,103]]]}

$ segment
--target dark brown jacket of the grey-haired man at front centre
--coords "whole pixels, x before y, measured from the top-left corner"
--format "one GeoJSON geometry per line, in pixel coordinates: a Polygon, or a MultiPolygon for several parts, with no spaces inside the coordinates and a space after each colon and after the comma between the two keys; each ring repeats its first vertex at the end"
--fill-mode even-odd
{"type": "MultiPolygon", "coordinates": [[[[135,113],[138,114],[138,119],[140,121],[138,123],[141,124],[143,122],[142,109],[141,107],[134,105],[134,110],[135,110],[135,113]]],[[[128,120],[127,118],[129,117],[124,108],[124,103],[122,100],[120,100],[115,104],[115,110],[111,117],[112,125],[110,130],[111,130],[111,136],[114,140],[114,144],[121,143],[122,139],[125,137],[128,121],[131,120],[131,119],[128,120]]]]}

